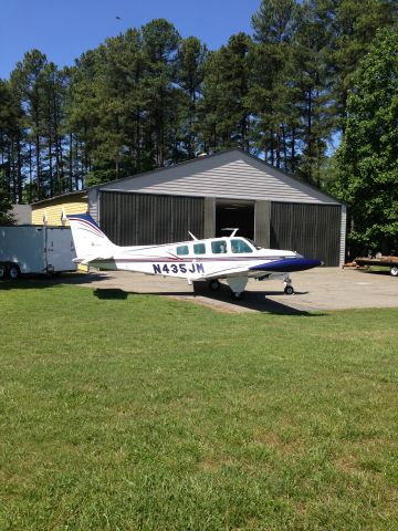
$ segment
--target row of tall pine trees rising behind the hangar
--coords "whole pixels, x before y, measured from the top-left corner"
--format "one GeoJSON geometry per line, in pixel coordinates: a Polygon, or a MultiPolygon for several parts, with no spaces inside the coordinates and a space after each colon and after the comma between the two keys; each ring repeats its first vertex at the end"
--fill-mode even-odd
{"type": "Polygon", "coordinates": [[[64,69],[31,50],[0,80],[0,188],[32,202],[233,146],[327,187],[358,64],[396,20],[397,0],[262,0],[216,51],[164,19],[64,69]]]}

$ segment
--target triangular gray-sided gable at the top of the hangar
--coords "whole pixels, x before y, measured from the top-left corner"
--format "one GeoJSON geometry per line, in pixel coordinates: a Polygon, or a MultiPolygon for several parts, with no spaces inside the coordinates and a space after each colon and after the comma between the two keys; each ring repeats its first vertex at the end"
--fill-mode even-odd
{"type": "Polygon", "coordinates": [[[342,205],[240,148],[96,185],[90,190],[342,205]]]}

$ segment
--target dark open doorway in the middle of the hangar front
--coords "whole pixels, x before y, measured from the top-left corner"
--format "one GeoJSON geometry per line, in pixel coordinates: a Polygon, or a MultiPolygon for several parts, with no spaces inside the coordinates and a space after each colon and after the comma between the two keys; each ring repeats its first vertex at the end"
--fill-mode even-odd
{"type": "Polygon", "coordinates": [[[216,202],[216,237],[229,236],[226,228],[239,228],[238,235],[254,239],[254,201],[234,201],[233,199],[216,202]]]}

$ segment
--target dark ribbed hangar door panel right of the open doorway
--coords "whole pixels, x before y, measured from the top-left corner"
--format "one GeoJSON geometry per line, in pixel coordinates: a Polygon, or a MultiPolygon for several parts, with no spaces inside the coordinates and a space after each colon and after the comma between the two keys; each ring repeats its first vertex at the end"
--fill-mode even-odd
{"type": "Polygon", "coordinates": [[[334,205],[271,206],[271,248],[291,249],[325,266],[339,266],[342,207],[334,205]]]}

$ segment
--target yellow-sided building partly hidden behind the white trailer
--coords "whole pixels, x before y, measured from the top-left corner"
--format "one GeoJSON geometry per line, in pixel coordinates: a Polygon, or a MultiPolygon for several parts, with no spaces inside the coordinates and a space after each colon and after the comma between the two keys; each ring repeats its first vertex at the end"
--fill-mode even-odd
{"type": "Polygon", "coordinates": [[[52,199],[43,199],[32,205],[32,223],[67,227],[67,215],[84,214],[87,208],[86,191],[72,191],[52,199]]]}

